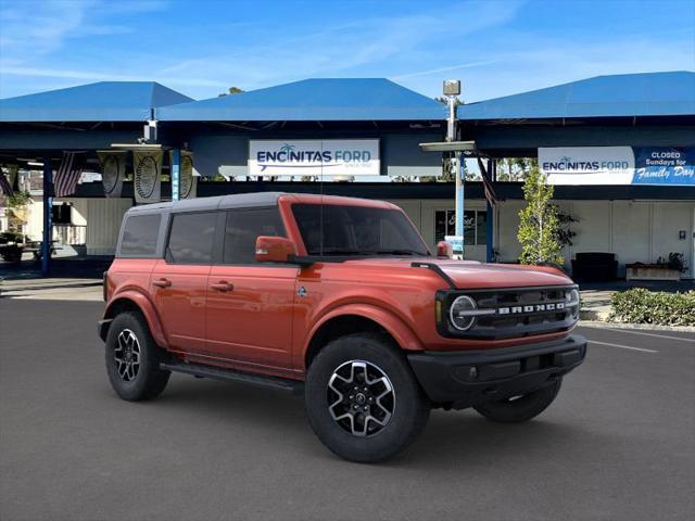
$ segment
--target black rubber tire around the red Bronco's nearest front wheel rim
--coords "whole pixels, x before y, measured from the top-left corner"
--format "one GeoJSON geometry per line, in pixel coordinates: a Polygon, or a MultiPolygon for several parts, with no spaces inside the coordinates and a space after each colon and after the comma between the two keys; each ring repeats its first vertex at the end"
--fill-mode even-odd
{"type": "MultiPolygon", "coordinates": [[[[349,334],[326,345],[308,368],[305,403],[309,424],[318,439],[338,456],[356,462],[382,461],[405,450],[425,429],[431,408],[403,353],[390,339],[375,333],[349,334]],[[389,420],[383,427],[368,422],[370,428],[379,430],[366,436],[355,435],[341,427],[333,419],[338,416],[334,409],[330,409],[332,391],[328,385],[331,377],[340,367],[355,361],[367,363],[380,370],[393,392],[389,420]]],[[[353,422],[358,420],[353,418],[353,422]]]]}

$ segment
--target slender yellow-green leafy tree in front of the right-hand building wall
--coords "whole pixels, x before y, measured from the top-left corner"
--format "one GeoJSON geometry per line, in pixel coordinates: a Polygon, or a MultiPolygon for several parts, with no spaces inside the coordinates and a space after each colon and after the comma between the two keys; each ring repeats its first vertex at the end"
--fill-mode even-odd
{"type": "Polygon", "coordinates": [[[523,183],[527,206],[519,212],[517,239],[521,243],[521,264],[565,264],[558,241],[560,223],[557,207],[551,202],[553,192],[545,175],[538,167],[532,167],[523,183]]]}

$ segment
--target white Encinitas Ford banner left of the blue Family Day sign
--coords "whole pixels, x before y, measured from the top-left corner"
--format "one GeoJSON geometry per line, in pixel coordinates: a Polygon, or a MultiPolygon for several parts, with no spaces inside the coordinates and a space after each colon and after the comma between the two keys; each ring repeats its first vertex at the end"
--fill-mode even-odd
{"type": "Polygon", "coordinates": [[[539,148],[539,167],[549,185],[630,185],[631,147],[539,148]]]}

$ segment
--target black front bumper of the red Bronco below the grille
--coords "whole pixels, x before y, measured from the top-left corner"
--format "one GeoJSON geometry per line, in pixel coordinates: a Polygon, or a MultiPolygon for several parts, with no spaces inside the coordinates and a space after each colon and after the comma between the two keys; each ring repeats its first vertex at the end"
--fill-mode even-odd
{"type": "Polygon", "coordinates": [[[579,334],[519,347],[407,355],[432,403],[455,409],[541,389],[574,369],[585,356],[586,339],[579,334]]]}

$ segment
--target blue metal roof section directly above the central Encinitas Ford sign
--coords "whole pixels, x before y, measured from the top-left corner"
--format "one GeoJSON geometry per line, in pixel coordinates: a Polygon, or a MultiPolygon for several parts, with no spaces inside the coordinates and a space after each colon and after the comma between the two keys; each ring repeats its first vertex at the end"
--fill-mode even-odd
{"type": "Polygon", "coordinates": [[[240,94],[170,105],[163,122],[445,119],[431,98],[386,78],[304,79],[240,94]]]}

